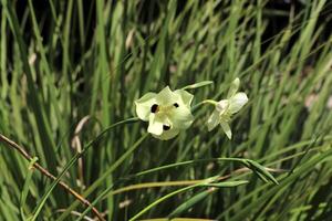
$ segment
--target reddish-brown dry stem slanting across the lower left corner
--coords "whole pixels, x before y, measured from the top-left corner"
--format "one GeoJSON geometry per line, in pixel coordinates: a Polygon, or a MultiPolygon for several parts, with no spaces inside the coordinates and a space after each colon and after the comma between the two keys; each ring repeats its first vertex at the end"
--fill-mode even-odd
{"type": "MultiPolygon", "coordinates": [[[[7,144],[9,147],[18,150],[20,152],[20,155],[22,155],[27,160],[31,161],[33,160],[33,157],[30,156],[25,149],[21,146],[19,146],[17,143],[12,141],[11,139],[9,139],[8,137],[3,136],[2,134],[0,134],[0,141],[3,144],[7,144]]],[[[52,179],[52,180],[56,180],[56,177],[53,176],[49,170],[46,170],[45,168],[43,168],[40,164],[38,162],[33,162],[33,168],[38,169],[42,175],[44,175],[45,177],[52,179]]],[[[60,187],[62,187],[65,191],[68,191],[69,193],[71,193],[72,196],[74,196],[77,200],[80,200],[83,204],[91,207],[91,202],[87,201],[85,198],[83,198],[80,193],[77,193],[75,190],[73,190],[71,187],[69,187],[65,182],[63,181],[59,181],[58,182],[60,187]]],[[[102,217],[102,214],[98,212],[98,210],[96,208],[94,208],[92,206],[92,211],[94,212],[94,214],[100,219],[100,220],[104,220],[104,218],[102,217]]]]}

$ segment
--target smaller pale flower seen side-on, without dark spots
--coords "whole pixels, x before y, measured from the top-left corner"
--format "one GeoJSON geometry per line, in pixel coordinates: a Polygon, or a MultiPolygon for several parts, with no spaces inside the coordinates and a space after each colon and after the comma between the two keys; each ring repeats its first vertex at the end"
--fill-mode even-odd
{"type": "Polygon", "coordinates": [[[243,92],[238,92],[240,80],[236,78],[229,88],[227,99],[221,99],[216,103],[216,108],[211,116],[208,118],[208,130],[212,130],[218,124],[220,124],[222,130],[229,139],[231,139],[231,130],[229,127],[229,120],[231,116],[239,112],[242,106],[248,102],[248,97],[243,92]]]}

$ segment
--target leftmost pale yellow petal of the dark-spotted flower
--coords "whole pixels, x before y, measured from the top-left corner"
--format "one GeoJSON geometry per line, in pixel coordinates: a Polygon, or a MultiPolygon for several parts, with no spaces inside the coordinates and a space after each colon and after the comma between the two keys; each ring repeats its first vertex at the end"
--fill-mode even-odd
{"type": "Polygon", "coordinates": [[[147,93],[135,101],[136,114],[139,119],[147,122],[151,115],[151,107],[156,104],[156,93],[147,93]]]}

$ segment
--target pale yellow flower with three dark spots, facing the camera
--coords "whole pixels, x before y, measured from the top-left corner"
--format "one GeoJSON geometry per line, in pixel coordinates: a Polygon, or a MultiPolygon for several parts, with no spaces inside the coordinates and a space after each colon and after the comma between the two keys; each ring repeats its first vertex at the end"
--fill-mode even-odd
{"type": "Polygon", "coordinates": [[[158,94],[147,93],[135,101],[137,116],[148,122],[147,131],[158,139],[172,139],[194,122],[193,95],[184,90],[172,92],[166,86],[158,94]]]}

